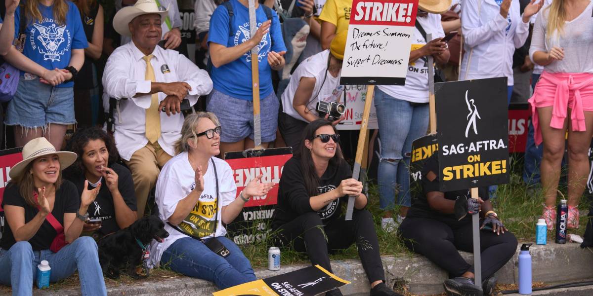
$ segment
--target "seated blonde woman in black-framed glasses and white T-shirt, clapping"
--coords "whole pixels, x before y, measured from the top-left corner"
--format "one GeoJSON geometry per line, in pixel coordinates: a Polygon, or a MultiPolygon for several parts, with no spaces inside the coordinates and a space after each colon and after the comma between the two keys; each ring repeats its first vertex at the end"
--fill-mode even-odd
{"type": "Polygon", "coordinates": [[[186,117],[175,153],[161,170],[155,191],[158,215],[170,234],[152,241],[150,267],[167,264],[186,276],[206,279],[225,289],[256,276],[237,244],[226,237],[231,223],[253,196],[266,195],[272,183],[255,176],[237,195],[231,166],[220,153],[222,128],[211,112],[186,117]]]}

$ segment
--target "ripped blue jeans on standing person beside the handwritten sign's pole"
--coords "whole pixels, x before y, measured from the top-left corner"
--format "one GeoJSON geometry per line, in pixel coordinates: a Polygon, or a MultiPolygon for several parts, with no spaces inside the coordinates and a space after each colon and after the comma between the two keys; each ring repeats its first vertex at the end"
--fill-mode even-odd
{"type": "Polygon", "coordinates": [[[428,104],[410,104],[375,88],[375,107],[381,143],[377,181],[380,208],[393,208],[396,185],[397,204],[410,207],[410,153],[412,141],[428,130],[428,104]]]}

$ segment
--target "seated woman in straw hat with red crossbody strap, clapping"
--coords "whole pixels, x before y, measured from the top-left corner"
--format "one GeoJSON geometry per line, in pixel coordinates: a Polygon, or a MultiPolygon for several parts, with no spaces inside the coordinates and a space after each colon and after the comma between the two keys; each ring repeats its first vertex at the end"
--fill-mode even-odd
{"type": "Polygon", "coordinates": [[[0,283],[11,285],[13,295],[33,294],[35,266],[42,260],[49,262],[51,282],[78,270],[82,295],[107,295],[97,244],[79,237],[101,186],[78,195],[74,184],[62,181],[62,169],[75,160],[75,153],[56,152],[40,137],[25,144],[23,160],[10,170],[2,201],[8,225],[0,240],[0,283]]]}

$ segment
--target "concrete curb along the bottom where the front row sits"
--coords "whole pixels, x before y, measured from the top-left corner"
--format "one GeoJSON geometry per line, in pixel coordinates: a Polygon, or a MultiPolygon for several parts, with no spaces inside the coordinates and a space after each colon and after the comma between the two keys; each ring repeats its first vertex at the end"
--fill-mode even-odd
{"type": "MultiPolygon", "coordinates": [[[[519,244],[520,246],[521,244],[519,244]]],[[[461,252],[468,262],[473,255],[461,252]]],[[[535,282],[572,282],[593,278],[593,250],[581,249],[579,244],[554,244],[531,247],[533,260],[533,281],[535,282]]],[[[438,268],[423,256],[406,255],[400,257],[382,256],[385,279],[390,287],[403,285],[417,295],[441,294],[442,282],[448,278],[447,272],[438,268]]],[[[518,250],[515,256],[496,273],[500,284],[516,284],[518,278],[518,250]]],[[[283,266],[280,271],[257,269],[257,278],[267,278],[296,269],[307,264],[283,266]]],[[[337,260],[331,262],[337,276],[352,282],[341,290],[344,295],[368,295],[369,284],[359,260],[337,260]]],[[[178,276],[177,278],[151,278],[138,281],[138,284],[107,287],[109,295],[211,295],[215,287],[207,281],[178,276]]],[[[80,290],[40,291],[35,295],[80,295],[80,290]]]]}

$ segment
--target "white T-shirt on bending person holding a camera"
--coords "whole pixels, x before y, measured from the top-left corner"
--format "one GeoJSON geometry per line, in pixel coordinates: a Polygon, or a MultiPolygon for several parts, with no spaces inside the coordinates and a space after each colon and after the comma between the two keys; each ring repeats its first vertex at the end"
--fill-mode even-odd
{"type": "Polygon", "coordinates": [[[288,86],[286,86],[286,89],[282,93],[282,110],[286,114],[291,115],[298,120],[305,121],[305,123],[309,122],[305,120],[305,118],[302,118],[297,110],[292,108],[292,101],[294,100],[295,92],[297,92],[301,78],[315,78],[315,88],[313,88],[313,93],[311,93],[311,98],[307,104],[307,110],[310,112],[314,112],[314,114],[317,115],[317,112],[315,111],[317,102],[320,100],[329,101],[333,98],[332,94],[334,89],[338,88],[340,85],[340,75],[338,73],[338,76],[334,77],[327,71],[327,60],[329,59],[329,55],[330,50],[328,49],[308,57],[308,59],[298,65],[295,72],[292,73],[291,80],[288,82],[288,86]]]}

